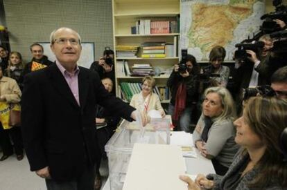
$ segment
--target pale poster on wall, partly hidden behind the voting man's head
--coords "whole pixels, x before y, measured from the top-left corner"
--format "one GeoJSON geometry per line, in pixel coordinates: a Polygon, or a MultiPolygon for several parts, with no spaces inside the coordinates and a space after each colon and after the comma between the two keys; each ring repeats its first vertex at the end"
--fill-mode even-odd
{"type": "MultiPolygon", "coordinates": [[[[42,42],[39,44],[41,44],[44,48],[44,55],[46,55],[50,61],[55,61],[55,55],[50,48],[50,43],[42,42]]],[[[80,59],[78,60],[78,66],[89,68],[92,62],[94,62],[94,59],[94,42],[82,42],[82,53],[80,54],[80,59]]]]}

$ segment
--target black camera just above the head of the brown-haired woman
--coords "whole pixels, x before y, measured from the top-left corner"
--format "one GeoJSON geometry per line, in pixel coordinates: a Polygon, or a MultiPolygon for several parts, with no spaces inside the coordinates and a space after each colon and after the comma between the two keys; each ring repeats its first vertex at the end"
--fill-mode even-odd
{"type": "Polygon", "coordinates": [[[269,85],[256,86],[253,88],[243,88],[243,100],[256,95],[272,97],[276,96],[276,92],[269,85]]]}

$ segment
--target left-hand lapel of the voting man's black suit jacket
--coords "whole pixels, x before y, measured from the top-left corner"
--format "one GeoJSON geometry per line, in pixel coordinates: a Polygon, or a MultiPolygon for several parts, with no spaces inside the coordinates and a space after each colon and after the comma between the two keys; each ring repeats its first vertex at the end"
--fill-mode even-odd
{"type": "Polygon", "coordinates": [[[64,76],[62,75],[56,64],[49,66],[48,69],[51,83],[53,84],[53,86],[55,86],[55,89],[63,96],[64,99],[68,99],[69,102],[73,104],[73,106],[79,108],[79,105],[75,97],[73,97],[73,93],[71,92],[71,89],[69,88],[66,79],[64,79],[64,76]]]}

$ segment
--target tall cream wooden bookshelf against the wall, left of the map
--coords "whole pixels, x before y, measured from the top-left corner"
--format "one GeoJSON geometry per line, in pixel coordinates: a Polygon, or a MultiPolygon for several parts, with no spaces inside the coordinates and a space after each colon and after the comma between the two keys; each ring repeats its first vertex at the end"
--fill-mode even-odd
{"type": "MultiPolygon", "coordinates": [[[[139,83],[142,77],[127,75],[124,68],[119,66],[122,62],[125,61],[130,70],[132,70],[131,68],[134,64],[150,64],[150,66],[158,71],[156,74],[164,73],[164,71],[170,70],[174,64],[178,63],[180,0],[112,0],[112,15],[114,50],[116,53],[116,96],[123,98],[121,83],[139,83]],[[139,27],[137,23],[142,23],[141,20],[148,20],[149,23],[145,27],[151,27],[145,29],[144,33],[142,30],[139,31],[140,28],[137,28],[139,27]],[[168,32],[154,28],[155,26],[157,27],[157,24],[164,25],[164,21],[168,22],[166,27],[169,28],[168,32]],[[175,23],[178,26],[174,26],[175,23]],[[132,27],[137,28],[136,33],[133,32],[132,34],[132,27]],[[177,28],[177,30],[171,28],[177,28]],[[146,30],[149,32],[146,32],[146,30]],[[173,45],[171,46],[173,47],[172,55],[159,58],[143,58],[141,57],[141,53],[137,53],[137,57],[121,57],[117,55],[116,46],[139,46],[139,52],[141,52],[142,44],[152,42],[164,42],[173,45]]],[[[163,88],[166,86],[168,77],[169,75],[155,75],[156,85],[159,88],[163,88]]],[[[162,99],[162,104],[167,104],[168,102],[168,99],[162,99]]]]}

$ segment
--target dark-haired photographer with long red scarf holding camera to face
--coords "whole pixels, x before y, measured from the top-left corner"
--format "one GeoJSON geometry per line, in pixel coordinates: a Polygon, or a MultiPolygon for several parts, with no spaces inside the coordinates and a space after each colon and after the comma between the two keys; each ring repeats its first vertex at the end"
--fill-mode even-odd
{"type": "Polygon", "coordinates": [[[181,131],[190,132],[191,114],[198,102],[199,71],[195,57],[188,54],[182,57],[180,64],[175,64],[167,81],[171,89],[168,114],[173,118],[173,125],[181,131]]]}

